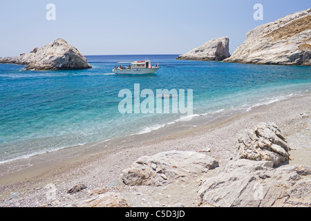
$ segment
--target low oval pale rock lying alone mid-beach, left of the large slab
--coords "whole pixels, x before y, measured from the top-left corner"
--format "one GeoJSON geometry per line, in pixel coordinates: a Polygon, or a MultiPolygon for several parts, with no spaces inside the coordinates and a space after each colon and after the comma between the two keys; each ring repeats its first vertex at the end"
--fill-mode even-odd
{"type": "Polygon", "coordinates": [[[191,175],[206,173],[218,162],[194,151],[167,151],[153,156],[140,157],[129,169],[122,171],[124,184],[162,186],[182,182],[191,175]]]}

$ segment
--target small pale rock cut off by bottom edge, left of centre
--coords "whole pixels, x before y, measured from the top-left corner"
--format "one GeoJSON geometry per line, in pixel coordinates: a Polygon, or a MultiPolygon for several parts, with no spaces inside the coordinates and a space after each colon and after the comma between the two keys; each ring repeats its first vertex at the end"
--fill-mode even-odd
{"type": "Polygon", "coordinates": [[[129,207],[120,193],[107,192],[85,200],[79,207],[129,207]]]}

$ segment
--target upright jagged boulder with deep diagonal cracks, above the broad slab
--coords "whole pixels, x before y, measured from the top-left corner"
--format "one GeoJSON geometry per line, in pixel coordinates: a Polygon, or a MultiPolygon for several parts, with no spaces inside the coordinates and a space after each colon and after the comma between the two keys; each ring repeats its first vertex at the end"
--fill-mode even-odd
{"type": "Polygon", "coordinates": [[[290,147],[276,124],[260,123],[238,135],[241,159],[272,161],[274,166],[289,160],[290,147]]]}

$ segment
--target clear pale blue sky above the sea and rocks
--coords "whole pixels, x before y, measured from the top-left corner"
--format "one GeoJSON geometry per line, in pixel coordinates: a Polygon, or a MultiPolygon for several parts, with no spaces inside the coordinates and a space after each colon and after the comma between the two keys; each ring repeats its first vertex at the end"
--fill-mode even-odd
{"type": "Polygon", "coordinates": [[[84,55],[182,54],[228,36],[230,53],[249,30],[311,8],[310,0],[1,0],[0,57],[59,37],[84,55]],[[56,20],[46,19],[46,5],[56,20]],[[255,3],[263,21],[255,21],[255,3]]]}

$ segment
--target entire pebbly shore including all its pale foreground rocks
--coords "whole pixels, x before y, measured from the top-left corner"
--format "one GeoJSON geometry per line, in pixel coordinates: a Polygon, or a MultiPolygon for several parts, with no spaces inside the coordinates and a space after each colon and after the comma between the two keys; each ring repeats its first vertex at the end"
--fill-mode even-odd
{"type": "Polygon", "coordinates": [[[30,180],[1,182],[0,205],[311,206],[310,99],[307,94],[187,133],[66,158],[32,171],[30,180]]]}

